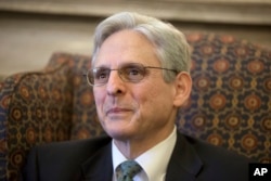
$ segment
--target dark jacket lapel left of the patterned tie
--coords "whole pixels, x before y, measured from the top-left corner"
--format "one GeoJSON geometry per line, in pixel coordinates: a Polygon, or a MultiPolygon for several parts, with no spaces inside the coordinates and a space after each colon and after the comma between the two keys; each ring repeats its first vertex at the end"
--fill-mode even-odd
{"type": "Polygon", "coordinates": [[[81,165],[81,180],[83,181],[112,181],[113,163],[111,142],[81,165]]]}

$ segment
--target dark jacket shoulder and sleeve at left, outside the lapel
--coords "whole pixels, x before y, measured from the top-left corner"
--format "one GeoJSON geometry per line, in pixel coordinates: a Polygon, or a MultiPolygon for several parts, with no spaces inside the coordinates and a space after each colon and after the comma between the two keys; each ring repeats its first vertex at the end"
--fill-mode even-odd
{"type": "Polygon", "coordinates": [[[111,138],[65,141],[34,147],[24,167],[24,180],[68,181],[80,165],[111,143],[111,138]]]}

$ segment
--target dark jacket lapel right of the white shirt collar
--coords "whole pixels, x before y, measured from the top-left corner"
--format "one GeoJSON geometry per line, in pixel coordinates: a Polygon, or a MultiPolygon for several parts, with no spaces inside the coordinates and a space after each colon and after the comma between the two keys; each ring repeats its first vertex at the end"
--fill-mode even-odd
{"type": "Polygon", "coordinates": [[[177,143],[169,160],[166,181],[193,181],[201,171],[203,163],[186,139],[177,133],[177,143]]]}

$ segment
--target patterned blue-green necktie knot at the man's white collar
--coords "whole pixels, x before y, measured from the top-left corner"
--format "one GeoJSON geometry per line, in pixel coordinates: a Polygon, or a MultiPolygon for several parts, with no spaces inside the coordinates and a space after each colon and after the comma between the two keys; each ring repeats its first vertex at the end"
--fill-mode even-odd
{"type": "Polygon", "coordinates": [[[121,163],[117,169],[117,180],[118,181],[132,181],[132,178],[141,171],[140,165],[134,160],[126,160],[121,163]]]}

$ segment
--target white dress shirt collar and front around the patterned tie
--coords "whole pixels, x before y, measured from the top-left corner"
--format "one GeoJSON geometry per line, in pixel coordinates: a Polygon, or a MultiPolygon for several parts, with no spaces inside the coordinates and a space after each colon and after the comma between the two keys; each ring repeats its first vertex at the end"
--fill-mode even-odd
{"type": "MultiPolygon", "coordinates": [[[[142,167],[142,171],[138,173],[134,181],[165,181],[167,166],[175,148],[177,140],[177,128],[175,127],[171,134],[156,144],[154,147],[141,154],[134,160],[142,167]]],[[[113,157],[113,181],[116,181],[116,168],[119,164],[127,160],[121,154],[114,141],[112,143],[113,157]]]]}

